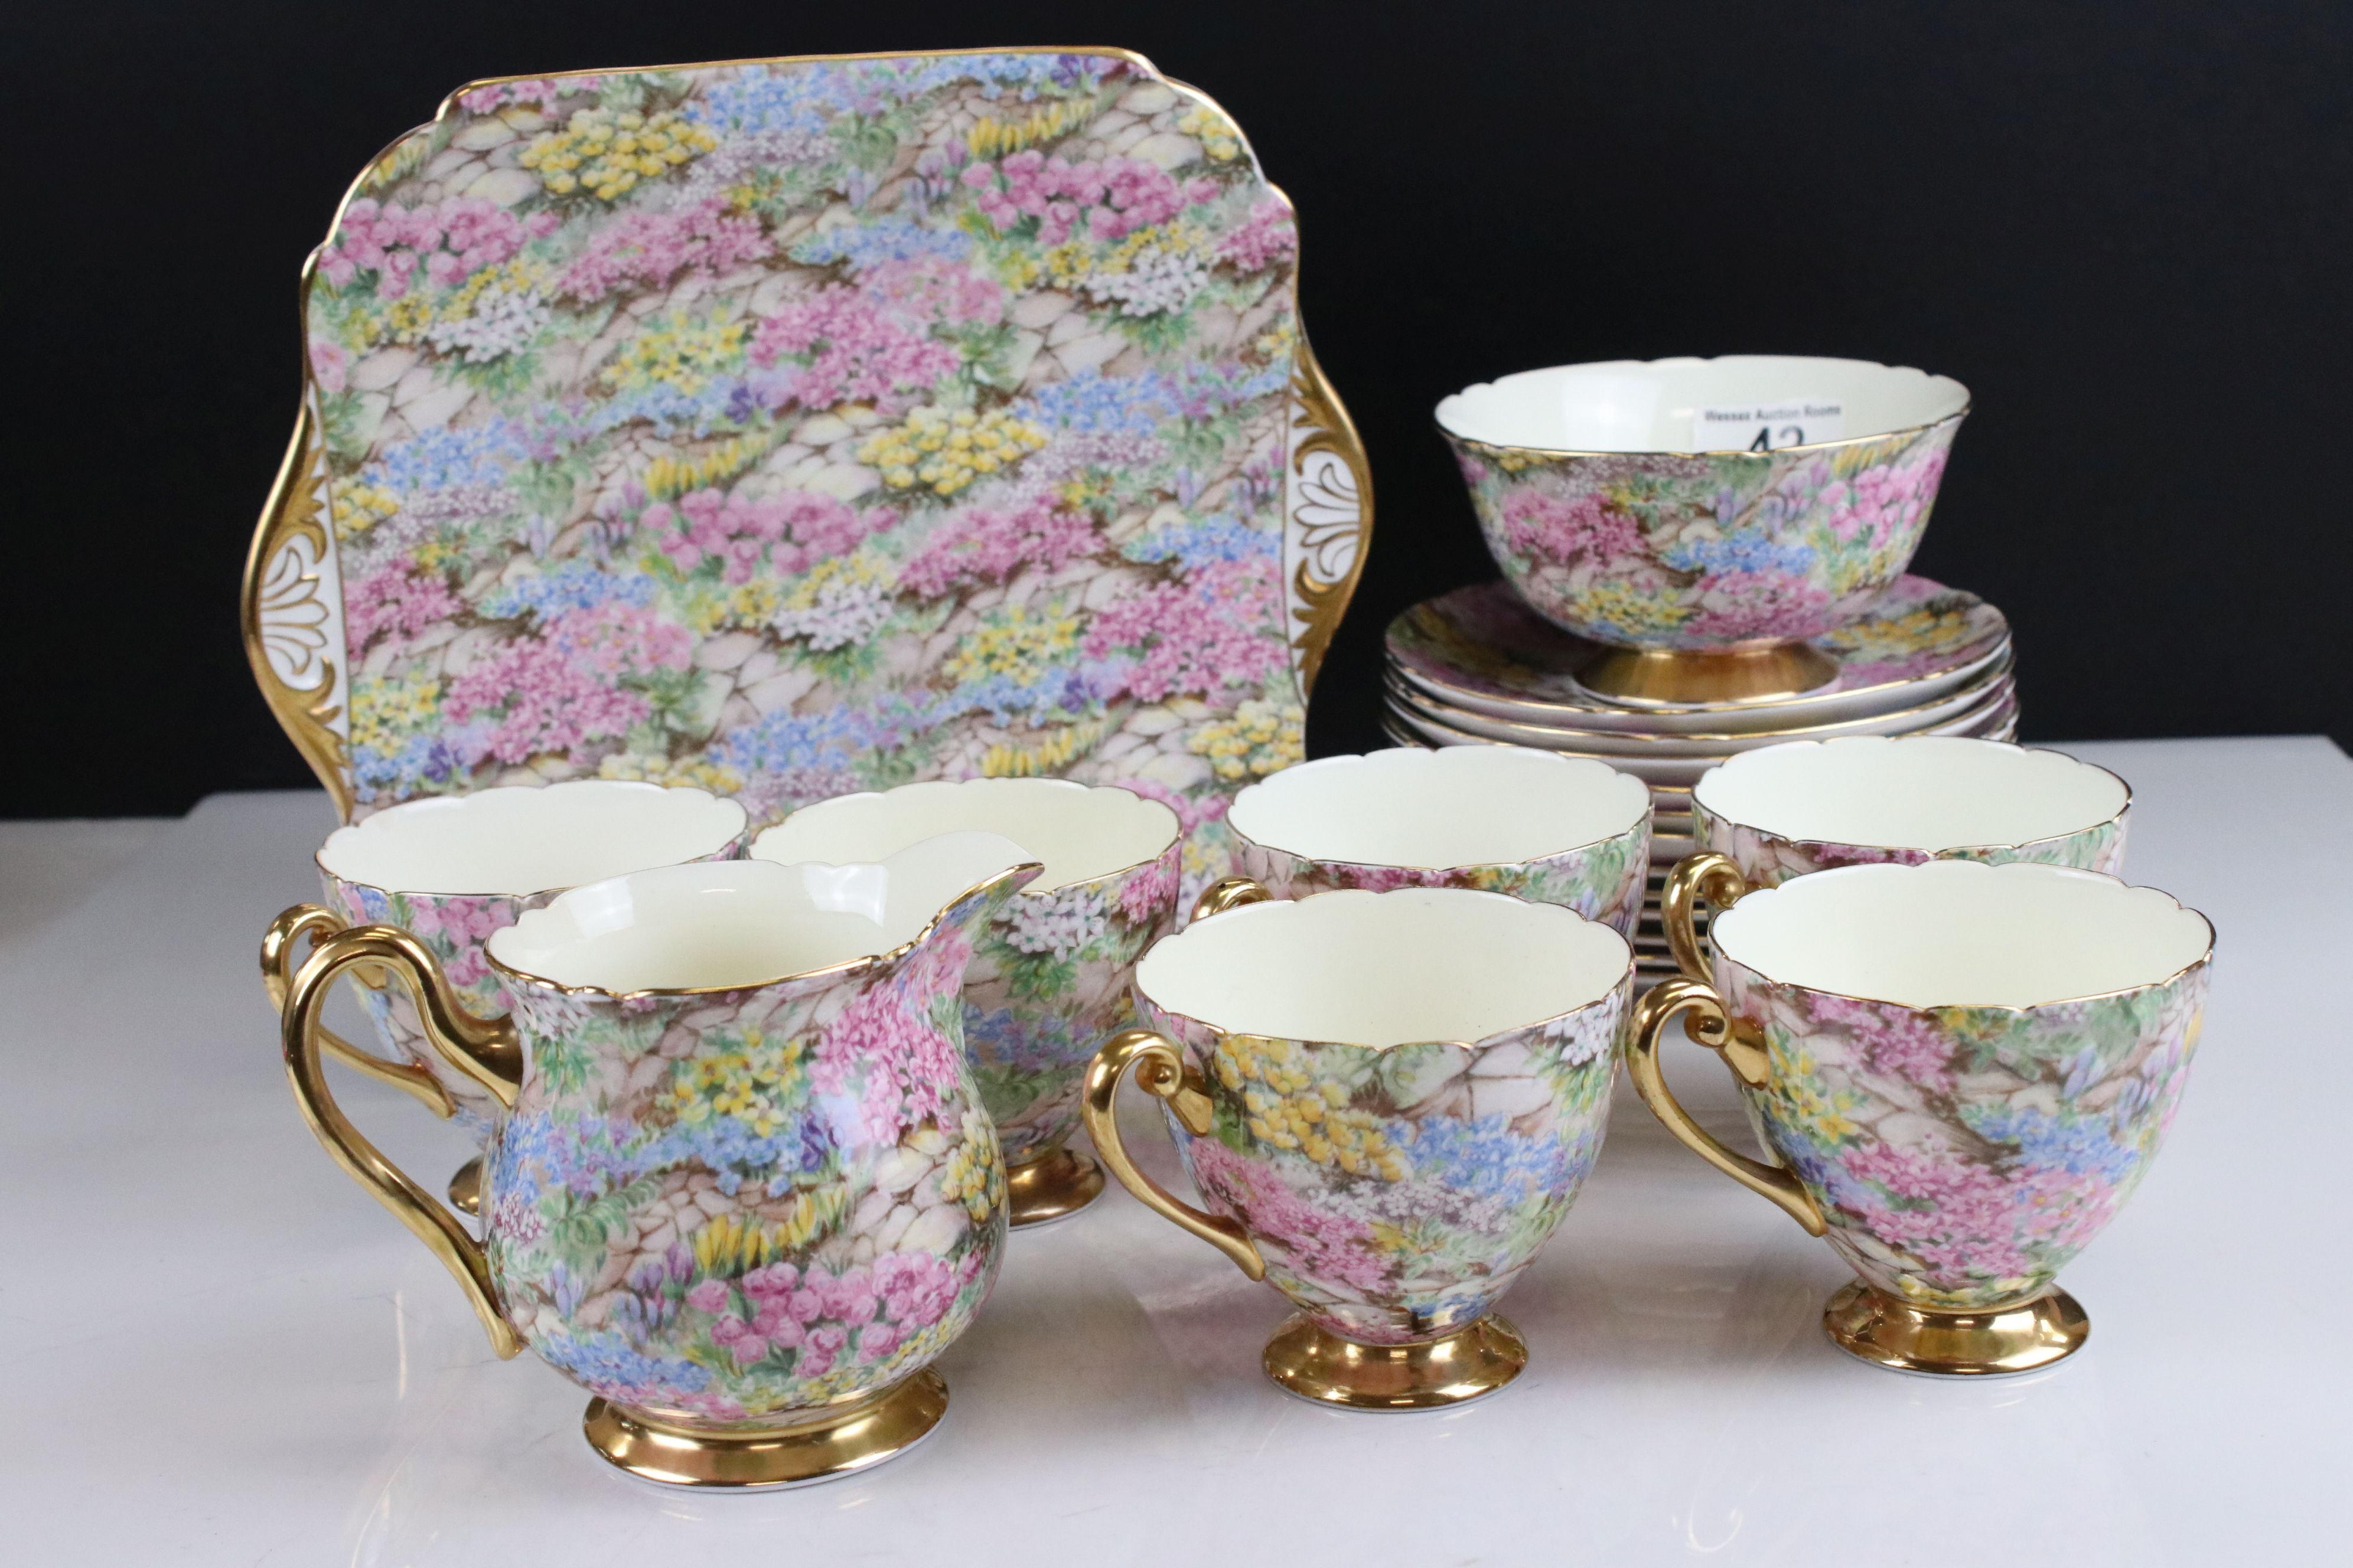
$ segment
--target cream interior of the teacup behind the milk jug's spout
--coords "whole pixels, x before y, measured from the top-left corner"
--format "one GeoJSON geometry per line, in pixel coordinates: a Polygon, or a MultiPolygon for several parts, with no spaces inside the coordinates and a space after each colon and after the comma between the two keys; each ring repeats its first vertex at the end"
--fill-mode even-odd
{"type": "Polygon", "coordinates": [[[802,806],[758,839],[755,860],[882,860],[936,832],[981,830],[1045,863],[1026,891],[1052,893],[1158,860],[1176,842],[1176,813],[1118,785],[1068,778],[969,778],[840,795],[802,806]]]}

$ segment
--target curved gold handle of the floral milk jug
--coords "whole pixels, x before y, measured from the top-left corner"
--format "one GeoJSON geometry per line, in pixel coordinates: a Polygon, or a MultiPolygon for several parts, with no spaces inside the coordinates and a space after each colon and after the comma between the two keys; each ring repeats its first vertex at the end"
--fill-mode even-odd
{"type": "MultiPolygon", "coordinates": [[[[329,917],[332,919],[332,917],[329,917]]],[[[482,1244],[466,1234],[447,1208],[426,1197],[400,1166],[388,1161],[360,1128],[351,1124],[327,1088],[327,1072],[320,1065],[325,1044],[318,1027],[320,1009],[334,980],[358,964],[381,964],[400,976],[416,994],[416,1013],[426,1025],[426,1039],[454,1070],[496,1095],[499,1105],[513,1107],[522,1084],[522,1046],[515,1025],[506,1018],[475,1018],[449,994],[433,954],[398,926],[348,926],[322,938],[304,961],[287,990],[280,1018],[280,1044],[287,1053],[287,1079],[294,1084],[294,1103],[301,1105],[304,1121],[318,1135],[334,1164],[344,1166],[351,1180],[367,1187],[379,1204],[393,1211],[426,1248],[442,1260],[442,1267],[466,1291],[473,1314],[482,1319],[482,1333],[499,1359],[522,1349],[522,1338],[499,1309],[496,1286],[489,1279],[489,1262],[482,1244]]]]}

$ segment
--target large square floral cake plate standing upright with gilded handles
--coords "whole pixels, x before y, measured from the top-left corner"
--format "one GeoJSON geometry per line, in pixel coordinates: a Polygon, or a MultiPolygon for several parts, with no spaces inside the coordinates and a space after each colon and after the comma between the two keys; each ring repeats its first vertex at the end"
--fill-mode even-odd
{"type": "Polygon", "coordinates": [[[245,639],[346,818],[1056,773],[1198,886],[1304,755],[1369,473],[1289,200],[1136,54],[475,82],[301,289],[245,639]]]}

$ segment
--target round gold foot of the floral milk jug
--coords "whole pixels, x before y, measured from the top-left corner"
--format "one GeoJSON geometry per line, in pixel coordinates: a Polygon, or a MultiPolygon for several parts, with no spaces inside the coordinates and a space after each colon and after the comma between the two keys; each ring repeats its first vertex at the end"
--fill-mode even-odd
{"type": "Polygon", "coordinates": [[[581,1427],[588,1446],[642,1481],[720,1490],[781,1490],[816,1486],[899,1458],[939,1425],[948,1385],[920,1371],[852,1406],[824,1410],[791,1427],[687,1427],[588,1401],[581,1427]]]}

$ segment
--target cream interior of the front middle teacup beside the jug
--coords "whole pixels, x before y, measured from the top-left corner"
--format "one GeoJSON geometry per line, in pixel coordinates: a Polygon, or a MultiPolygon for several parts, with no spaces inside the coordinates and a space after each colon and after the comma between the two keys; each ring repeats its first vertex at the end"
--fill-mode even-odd
{"type": "Polygon", "coordinates": [[[1633,961],[1609,926],[1468,889],[1318,893],[1198,919],[1136,964],[1136,990],[1228,1034],[1478,1044],[1607,997],[1633,961]]]}

